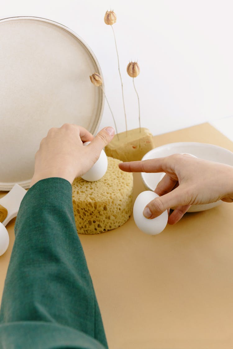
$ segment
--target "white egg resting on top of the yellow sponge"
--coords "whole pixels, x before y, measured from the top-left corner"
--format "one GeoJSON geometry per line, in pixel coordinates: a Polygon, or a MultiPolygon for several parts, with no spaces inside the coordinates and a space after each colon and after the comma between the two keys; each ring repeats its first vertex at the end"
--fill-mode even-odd
{"type": "MultiPolygon", "coordinates": [[[[83,143],[83,146],[87,146],[90,142],[83,143]]],[[[87,180],[88,182],[95,182],[104,176],[108,168],[108,158],[104,153],[104,150],[101,150],[100,157],[96,163],[88,170],[83,176],[82,179],[87,180]]]]}

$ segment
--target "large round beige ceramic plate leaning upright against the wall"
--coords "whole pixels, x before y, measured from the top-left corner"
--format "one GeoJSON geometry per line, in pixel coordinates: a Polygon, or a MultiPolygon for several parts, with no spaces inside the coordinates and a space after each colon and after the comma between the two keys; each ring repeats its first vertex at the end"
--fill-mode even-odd
{"type": "MultiPolygon", "coordinates": [[[[89,79],[100,66],[62,24],[38,17],[0,20],[0,190],[30,185],[34,157],[51,127],[72,123],[95,133],[104,96],[89,79]]],[[[78,154],[77,154],[78,155],[78,154]]]]}

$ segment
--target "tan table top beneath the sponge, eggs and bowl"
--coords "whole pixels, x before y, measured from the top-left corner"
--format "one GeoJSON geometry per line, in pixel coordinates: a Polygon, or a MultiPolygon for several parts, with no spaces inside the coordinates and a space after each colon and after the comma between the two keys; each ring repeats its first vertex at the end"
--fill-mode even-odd
{"type": "MultiPolygon", "coordinates": [[[[172,142],[233,143],[205,123],[154,137],[172,142]]],[[[134,174],[134,199],[145,190],[134,174]]],[[[3,192],[0,192],[2,196],[3,192]]],[[[14,242],[0,257],[0,295],[14,242]]],[[[122,227],[79,235],[110,349],[233,347],[233,204],[187,213],[156,236],[122,227]]]]}

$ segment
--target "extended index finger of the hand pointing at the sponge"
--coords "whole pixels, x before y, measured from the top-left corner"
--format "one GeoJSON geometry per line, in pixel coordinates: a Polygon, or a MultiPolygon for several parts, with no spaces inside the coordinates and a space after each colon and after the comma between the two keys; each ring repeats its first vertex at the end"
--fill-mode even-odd
{"type": "Polygon", "coordinates": [[[165,172],[164,157],[142,161],[130,161],[119,163],[119,168],[125,172],[165,172]]]}

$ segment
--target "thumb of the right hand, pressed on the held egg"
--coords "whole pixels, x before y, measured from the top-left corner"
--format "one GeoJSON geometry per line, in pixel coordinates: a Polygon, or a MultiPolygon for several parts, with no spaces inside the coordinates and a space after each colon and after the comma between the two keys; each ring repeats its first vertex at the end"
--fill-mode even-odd
{"type": "Polygon", "coordinates": [[[146,218],[153,219],[171,207],[184,205],[181,201],[182,196],[179,193],[180,190],[179,187],[177,187],[165,195],[158,196],[158,198],[155,198],[146,205],[143,215],[146,218]]]}

